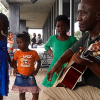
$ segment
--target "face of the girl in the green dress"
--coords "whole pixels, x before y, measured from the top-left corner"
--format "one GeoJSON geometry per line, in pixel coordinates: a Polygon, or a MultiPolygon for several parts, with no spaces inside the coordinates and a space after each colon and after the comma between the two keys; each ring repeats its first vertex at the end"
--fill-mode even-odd
{"type": "Polygon", "coordinates": [[[64,21],[57,21],[56,30],[59,34],[61,34],[61,35],[66,34],[67,29],[68,29],[68,27],[64,21]]]}

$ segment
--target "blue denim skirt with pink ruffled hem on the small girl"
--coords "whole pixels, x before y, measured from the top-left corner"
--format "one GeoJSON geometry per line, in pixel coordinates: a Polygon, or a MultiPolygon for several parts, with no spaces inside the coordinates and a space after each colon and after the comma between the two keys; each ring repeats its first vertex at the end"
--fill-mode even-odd
{"type": "Polygon", "coordinates": [[[19,91],[19,93],[39,93],[41,89],[37,86],[34,75],[25,76],[17,73],[12,90],[19,91]]]}

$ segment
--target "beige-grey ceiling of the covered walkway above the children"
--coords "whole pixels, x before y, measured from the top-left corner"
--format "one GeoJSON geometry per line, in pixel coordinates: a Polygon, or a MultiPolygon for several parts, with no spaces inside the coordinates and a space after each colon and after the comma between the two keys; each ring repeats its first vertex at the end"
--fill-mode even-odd
{"type": "Polygon", "coordinates": [[[20,3],[20,20],[26,20],[26,27],[43,28],[55,0],[0,0],[9,10],[9,3],[20,3]]]}

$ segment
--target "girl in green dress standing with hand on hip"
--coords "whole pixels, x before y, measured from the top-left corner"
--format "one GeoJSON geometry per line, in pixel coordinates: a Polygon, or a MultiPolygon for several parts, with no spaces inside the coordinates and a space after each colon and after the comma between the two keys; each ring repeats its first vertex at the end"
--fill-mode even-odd
{"type": "MultiPolygon", "coordinates": [[[[55,27],[58,34],[50,36],[49,40],[45,44],[45,50],[53,58],[48,71],[50,71],[50,69],[54,66],[54,64],[61,57],[61,55],[77,41],[75,37],[68,36],[66,34],[66,31],[69,29],[69,20],[66,15],[59,15],[56,17],[55,27]]],[[[64,68],[65,65],[66,64],[61,67],[64,68]]],[[[48,81],[46,75],[42,85],[46,87],[52,87],[58,76],[59,73],[57,75],[54,74],[52,77],[52,81],[48,81]]]]}

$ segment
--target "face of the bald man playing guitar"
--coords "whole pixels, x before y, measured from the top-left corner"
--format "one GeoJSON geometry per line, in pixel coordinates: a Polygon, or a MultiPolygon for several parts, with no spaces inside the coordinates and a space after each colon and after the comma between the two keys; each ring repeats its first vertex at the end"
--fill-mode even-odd
{"type": "MultiPolygon", "coordinates": [[[[84,0],[83,0],[84,1],[84,0]]],[[[96,26],[96,11],[86,2],[78,5],[78,17],[80,31],[92,31],[96,26]]]]}

